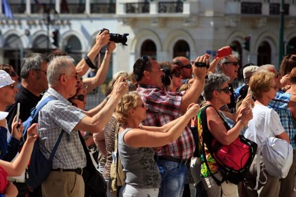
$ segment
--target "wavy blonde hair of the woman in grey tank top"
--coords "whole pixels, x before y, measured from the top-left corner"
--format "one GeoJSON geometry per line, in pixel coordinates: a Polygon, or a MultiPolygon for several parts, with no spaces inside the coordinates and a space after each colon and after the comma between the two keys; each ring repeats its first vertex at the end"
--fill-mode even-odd
{"type": "Polygon", "coordinates": [[[116,119],[119,123],[125,123],[129,117],[129,111],[138,106],[141,98],[137,91],[127,92],[118,102],[116,107],[116,119]]]}

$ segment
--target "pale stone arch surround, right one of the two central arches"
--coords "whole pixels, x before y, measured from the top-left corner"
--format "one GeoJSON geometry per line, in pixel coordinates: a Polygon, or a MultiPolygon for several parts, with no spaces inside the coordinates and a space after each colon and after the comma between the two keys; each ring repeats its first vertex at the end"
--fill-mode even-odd
{"type": "Polygon", "coordinates": [[[167,57],[166,57],[166,61],[167,60],[172,60],[173,59],[173,48],[174,45],[177,43],[177,41],[179,40],[185,40],[188,45],[189,45],[189,49],[190,49],[190,54],[189,54],[189,59],[192,59],[192,57],[195,59],[196,58],[196,46],[195,46],[195,41],[192,38],[192,36],[190,34],[188,34],[187,32],[185,32],[184,30],[181,29],[177,29],[177,30],[172,30],[168,36],[166,37],[166,40],[163,44],[163,50],[167,51],[167,57]]]}

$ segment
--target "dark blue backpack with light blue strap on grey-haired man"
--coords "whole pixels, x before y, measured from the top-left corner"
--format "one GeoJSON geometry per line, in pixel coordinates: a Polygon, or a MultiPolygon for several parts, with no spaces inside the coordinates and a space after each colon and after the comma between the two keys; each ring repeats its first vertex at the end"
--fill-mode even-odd
{"type": "MultiPolygon", "coordinates": [[[[31,116],[23,123],[25,138],[27,136],[28,128],[34,122],[37,122],[37,118],[38,118],[37,115],[41,110],[41,108],[53,99],[54,98],[52,97],[47,97],[38,105],[37,108],[35,107],[31,110],[31,116]]],[[[59,135],[58,140],[53,147],[53,150],[50,154],[49,159],[46,159],[39,149],[39,138],[37,138],[37,140],[35,141],[30,163],[28,165],[28,170],[27,170],[28,178],[26,178],[26,184],[30,189],[34,190],[35,188],[37,188],[37,186],[41,185],[41,183],[45,181],[45,179],[48,177],[52,168],[52,159],[61,142],[63,134],[64,134],[64,130],[62,130],[61,134],[59,135]]]]}

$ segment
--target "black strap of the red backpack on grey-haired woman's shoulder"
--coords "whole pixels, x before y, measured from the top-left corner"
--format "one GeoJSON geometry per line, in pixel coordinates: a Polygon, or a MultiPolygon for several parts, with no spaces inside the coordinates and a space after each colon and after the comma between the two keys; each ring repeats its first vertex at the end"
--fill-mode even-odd
{"type": "MultiPolygon", "coordinates": [[[[200,115],[200,119],[201,119],[201,125],[202,125],[202,130],[203,130],[203,135],[202,135],[202,154],[204,155],[204,162],[208,168],[208,171],[210,173],[210,175],[212,176],[212,178],[215,180],[215,182],[217,183],[217,185],[221,186],[221,184],[225,181],[225,177],[223,177],[223,179],[220,181],[218,178],[215,177],[215,175],[211,172],[207,158],[206,158],[206,151],[205,151],[205,140],[204,137],[210,137],[213,135],[209,132],[209,128],[208,128],[208,122],[207,122],[207,113],[206,113],[206,109],[208,107],[213,107],[212,105],[206,105],[205,107],[203,107],[203,109],[201,110],[201,115],[200,115]],[[207,133],[204,133],[207,132],[207,133]]],[[[213,107],[214,108],[214,107],[213,107]]],[[[215,108],[214,108],[215,109],[215,108]]],[[[215,109],[216,110],[216,109],[215,109]]],[[[216,110],[217,111],[217,110],[216,110]]],[[[217,112],[218,113],[218,112],[217,112]]],[[[218,113],[219,114],[219,113],[218,113]]]]}

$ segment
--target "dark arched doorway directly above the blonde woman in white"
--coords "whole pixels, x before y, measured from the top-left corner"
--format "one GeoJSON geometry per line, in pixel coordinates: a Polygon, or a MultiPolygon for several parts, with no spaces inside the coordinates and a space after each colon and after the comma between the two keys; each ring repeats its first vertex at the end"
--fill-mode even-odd
{"type": "Polygon", "coordinates": [[[262,41],[258,47],[257,65],[271,63],[271,47],[267,41],[262,41]]]}

